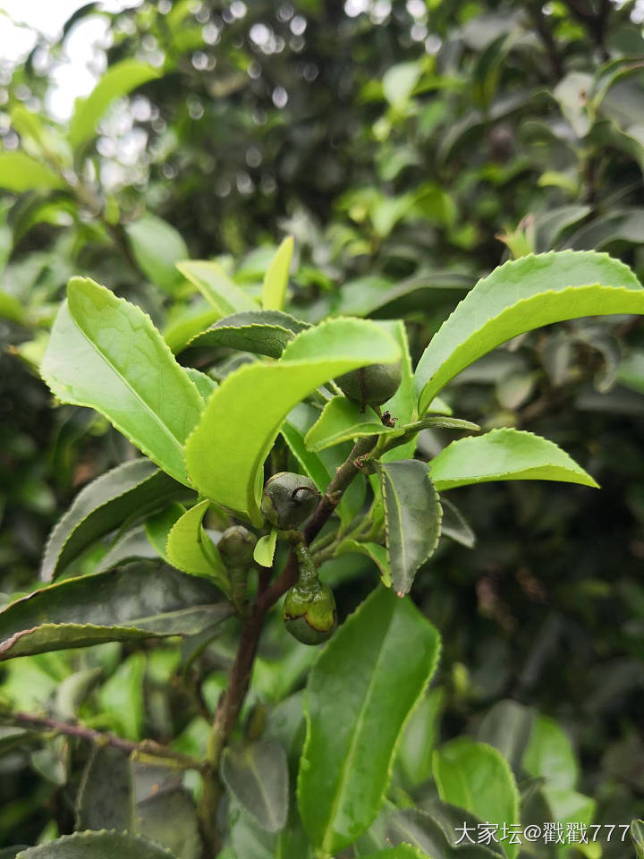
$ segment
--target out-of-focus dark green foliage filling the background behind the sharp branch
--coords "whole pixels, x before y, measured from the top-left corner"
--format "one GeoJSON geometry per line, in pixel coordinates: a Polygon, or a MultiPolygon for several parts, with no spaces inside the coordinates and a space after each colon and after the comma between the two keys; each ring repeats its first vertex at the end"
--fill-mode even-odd
{"type": "MultiPolygon", "coordinates": [[[[641,279],[643,19],[641,0],[158,0],[118,13],[89,3],[60,38],[38,38],[21,62],[4,62],[7,599],[36,586],[47,533],[80,487],[131,456],[106,421],[55,408],[38,378],[69,276],[139,303],[181,344],[207,305],[176,260],[217,259],[252,291],[292,234],[292,313],[402,316],[416,358],[504,259],[604,250],[641,279]],[[55,71],[74,33],[97,20],[100,109],[80,104],[71,124],[55,119],[55,71]]],[[[440,713],[444,739],[496,743],[513,715],[506,699],[555,718],[572,738],[596,821],[628,822],[644,804],[640,327],[609,317],[521,336],[463,372],[446,398],[486,428],[553,439],[602,489],[460,490],[476,547],[444,540],[412,592],[444,639],[442,692],[426,716],[440,713]]],[[[426,431],[421,441],[433,454],[446,438],[426,431]]],[[[343,616],[373,584],[367,564],[335,561],[328,571],[343,616]]],[[[307,660],[283,638],[267,630],[260,701],[301,686],[307,660]]],[[[175,682],[181,654],[170,646],[109,645],[9,663],[1,689],[21,709],[82,708],[89,724],[125,736],[181,735],[190,752],[205,724],[190,708],[195,696],[202,710],[214,706],[227,647],[206,652],[194,685],[175,682]]],[[[430,743],[429,727],[421,733],[430,743]]],[[[419,752],[405,748],[396,778],[411,789],[419,752]]],[[[6,749],[0,843],[66,831],[68,774],[82,761],[63,745],[6,749]]],[[[614,842],[604,855],[630,854],[614,842]]]]}

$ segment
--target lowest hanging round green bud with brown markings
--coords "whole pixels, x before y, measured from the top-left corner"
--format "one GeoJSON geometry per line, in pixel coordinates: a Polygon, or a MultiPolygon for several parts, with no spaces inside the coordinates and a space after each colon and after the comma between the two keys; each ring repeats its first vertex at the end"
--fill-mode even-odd
{"type": "Polygon", "coordinates": [[[337,625],[333,591],[318,580],[286,591],[282,614],[286,629],[302,644],[326,642],[337,625]]]}

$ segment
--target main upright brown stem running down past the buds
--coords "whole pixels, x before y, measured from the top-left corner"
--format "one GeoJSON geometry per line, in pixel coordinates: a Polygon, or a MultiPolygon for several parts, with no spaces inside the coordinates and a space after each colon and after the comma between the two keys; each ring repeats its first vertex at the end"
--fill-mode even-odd
{"type": "MultiPolygon", "coordinates": [[[[376,446],[376,442],[377,436],[360,438],[353,447],[351,454],[337,469],[333,480],[326,487],[325,494],[320,499],[318,507],[304,529],[304,541],[307,545],[318,536],[329,516],[339,504],[344,490],[360,470],[361,463],[376,446]]],[[[297,558],[292,551],[284,565],[282,574],[275,582],[268,583],[267,576],[260,577],[258,597],[250,618],[242,627],[242,637],[233,667],[228,675],[228,685],[216,709],[207,755],[211,774],[208,778],[204,778],[203,793],[199,803],[199,821],[201,833],[206,841],[208,859],[211,856],[216,856],[221,846],[221,837],[216,826],[217,808],[223,794],[223,787],[218,776],[219,762],[225,745],[233,733],[233,728],[249,689],[250,674],[258,650],[264,617],[282,594],[297,581],[297,576],[297,558]]]]}

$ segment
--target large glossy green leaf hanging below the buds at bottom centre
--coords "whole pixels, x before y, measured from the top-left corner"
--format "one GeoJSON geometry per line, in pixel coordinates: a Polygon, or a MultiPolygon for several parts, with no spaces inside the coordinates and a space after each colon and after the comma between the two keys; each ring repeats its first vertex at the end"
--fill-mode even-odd
{"type": "Polygon", "coordinates": [[[298,796],[323,855],[350,845],[375,819],[396,742],[438,650],[436,629],[411,600],[381,587],[320,653],[307,685],[298,796]]]}

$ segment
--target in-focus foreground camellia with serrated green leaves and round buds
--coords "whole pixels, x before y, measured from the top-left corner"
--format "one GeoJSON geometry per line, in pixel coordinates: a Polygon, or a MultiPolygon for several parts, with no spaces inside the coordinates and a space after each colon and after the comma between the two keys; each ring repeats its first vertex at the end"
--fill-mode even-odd
{"type": "MultiPolygon", "coordinates": [[[[445,385],[531,328],[642,314],[644,290],[606,254],[523,256],[473,286],[413,367],[400,320],[312,325],[285,312],[291,258],[286,239],[257,296],[214,262],[180,262],[211,315],[182,337],[164,338],[88,277],[70,280],[42,378],[142,456],[90,482],[55,525],[45,585],[0,612],[0,653],[148,642],[147,657],[135,649],[122,663],[121,680],[136,682],[141,659],[160,686],[182,676],[186,727],[161,743],[61,719],[96,682],[96,666],[64,681],[49,714],[7,706],[14,727],[3,743],[49,732],[84,761],[64,786],[75,834],[11,855],[513,859],[521,825],[552,834],[593,823],[565,736],[519,703],[505,705],[525,735],[514,770],[498,743],[467,736],[424,753],[441,643],[408,593],[441,535],[471,545],[445,491],[515,480],[597,489],[547,438],[484,432],[453,415],[445,385]],[[428,458],[419,433],[436,428],[455,438],[428,458]],[[91,547],[114,532],[92,561],[91,547]],[[351,577],[355,556],[379,576],[338,618],[325,565],[339,561],[351,577]],[[181,651],[168,650],[177,636],[181,651]],[[232,660],[206,690],[191,678],[217,643],[232,660]],[[473,838],[481,827],[496,837],[473,838]]],[[[117,710],[119,686],[131,706],[123,685],[102,690],[117,710]]],[[[136,714],[119,715],[127,734],[136,714]]]]}

